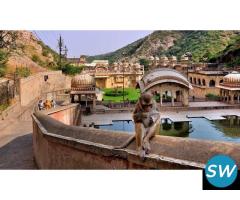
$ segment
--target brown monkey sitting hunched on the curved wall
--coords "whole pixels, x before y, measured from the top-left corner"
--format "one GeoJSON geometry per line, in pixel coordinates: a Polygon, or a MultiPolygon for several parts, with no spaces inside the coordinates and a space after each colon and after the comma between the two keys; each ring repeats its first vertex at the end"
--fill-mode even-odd
{"type": "Polygon", "coordinates": [[[151,150],[149,141],[155,135],[159,119],[160,114],[152,94],[142,93],[133,111],[136,149],[142,159],[151,150]]]}

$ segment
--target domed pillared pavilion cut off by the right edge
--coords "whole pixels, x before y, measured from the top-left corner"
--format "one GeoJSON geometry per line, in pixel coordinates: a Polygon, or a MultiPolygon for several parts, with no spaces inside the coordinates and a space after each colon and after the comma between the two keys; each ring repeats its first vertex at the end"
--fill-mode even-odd
{"type": "Polygon", "coordinates": [[[240,73],[233,71],[224,76],[223,82],[217,86],[220,89],[222,101],[236,104],[240,103],[240,73]]]}

